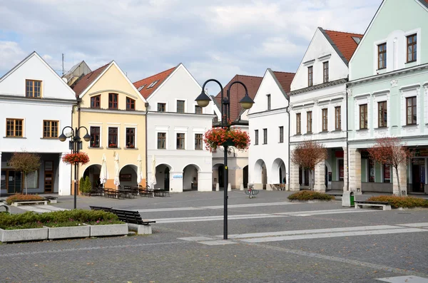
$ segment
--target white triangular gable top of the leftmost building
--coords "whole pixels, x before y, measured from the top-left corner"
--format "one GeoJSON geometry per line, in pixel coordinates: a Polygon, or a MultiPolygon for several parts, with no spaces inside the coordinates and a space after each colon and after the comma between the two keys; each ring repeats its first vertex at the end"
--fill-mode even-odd
{"type": "Polygon", "coordinates": [[[74,91],[36,52],[0,78],[0,93],[25,97],[26,80],[41,81],[42,98],[76,100],[74,91]]]}

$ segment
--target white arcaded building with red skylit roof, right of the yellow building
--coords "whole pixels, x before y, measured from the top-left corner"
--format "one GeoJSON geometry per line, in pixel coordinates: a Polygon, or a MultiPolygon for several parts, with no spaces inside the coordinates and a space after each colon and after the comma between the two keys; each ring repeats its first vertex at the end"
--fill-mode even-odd
{"type": "Polygon", "coordinates": [[[211,191],[212,157],[203,143],[211,128],[212,103],[200,108],[195,102],[201,87],[179,64],[167,71],[134,83],[148,102],[148,184],[156,176],[156,188],[211,191]],[[156,173],[152,172],[153,156],[156,173]]]}

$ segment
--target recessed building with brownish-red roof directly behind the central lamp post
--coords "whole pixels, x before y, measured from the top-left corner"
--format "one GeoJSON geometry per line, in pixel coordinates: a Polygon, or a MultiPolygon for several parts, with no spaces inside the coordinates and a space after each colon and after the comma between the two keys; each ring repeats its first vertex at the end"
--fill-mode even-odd
{"type": "MultiPolygon", "coordinates": [[[[224,97],[227,96],[227,90],[231,83],[240,81],[247,86],[248,96],[255,98],[255,93],[262,83],[262,77],[258,76],[234,76],[229,83],[223,87],[224,97]]],[[[248,117],[245,109],[240,106],[239,101],[245,96],[245,89],[238,83],[235,83],[230,88],[230,128],[240,128],[248,132],[248,117]]],[[[213,123],[214,126],[220,125],[221,115],[219,109],[221,109],[221,92],[217,96],[213,97],[215,103],[215,113],[218,114],[217,120],[213,123]]],[[[237,150],[233,147],[229,147],[228,150],[228,173],[229,173],[229,184],[226,186],[231,189],[243,189],[248,186],[248,150],[242,151],[237,150]]],[[[218,148],[213,152],[213,187],[220,189],[225,187],[224,182],[224,151],[223,147],[218,148]]]]}

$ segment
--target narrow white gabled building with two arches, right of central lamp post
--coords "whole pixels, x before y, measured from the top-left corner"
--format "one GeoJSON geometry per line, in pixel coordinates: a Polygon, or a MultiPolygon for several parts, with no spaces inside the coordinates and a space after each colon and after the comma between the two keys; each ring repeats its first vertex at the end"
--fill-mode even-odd
{"type": "Polygon", "coordinates": [[[255,189],[275,190],[289,183],[288,95],[295,73],[267,69],[248,110],[250,122],[249,178],[255,189]]]}

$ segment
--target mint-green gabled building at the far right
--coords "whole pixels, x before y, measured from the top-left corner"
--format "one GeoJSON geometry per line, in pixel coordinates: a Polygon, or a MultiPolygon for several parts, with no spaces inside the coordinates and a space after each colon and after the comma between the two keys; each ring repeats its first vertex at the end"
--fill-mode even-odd
{"type": "Polygon", "coordinates": [[[367,154],[377,138],[395,136],[415,153],[399,168],[401,190],[428,192],[427,19],[425,0],[382,1],[350,60],[350,190],[399,193],[392,168],[367,154]]]}

